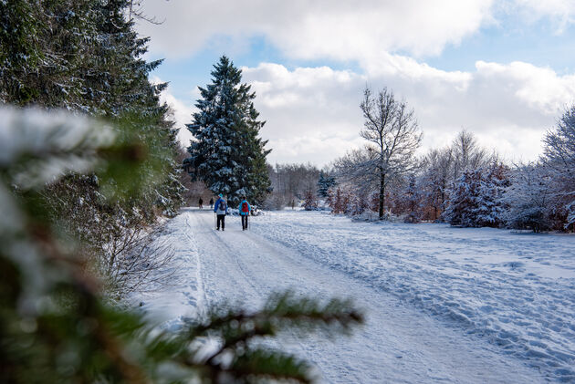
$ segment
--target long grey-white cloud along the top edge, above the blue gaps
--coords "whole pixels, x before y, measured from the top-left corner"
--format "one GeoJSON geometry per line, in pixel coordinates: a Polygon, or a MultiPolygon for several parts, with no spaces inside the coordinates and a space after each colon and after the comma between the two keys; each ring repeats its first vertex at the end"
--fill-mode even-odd
{"type": "MultiPolygon", "coordinates": [[[[235,0],[150,1],[149,15],[160,26],[141,23],[152,36],[152,50],[185,57],[218,36],[231,38],[228,49],[247,36],[266,36],[288,57],[357,60],[373,53],[404,50],[416,56],[438,54],[458,44],[491,16],[493,0],[235,0]]],[[[227,50],[227,49],[226,49],[227,50]]],[[[227,51],[230,54],[229,51],[227,51]]]]}

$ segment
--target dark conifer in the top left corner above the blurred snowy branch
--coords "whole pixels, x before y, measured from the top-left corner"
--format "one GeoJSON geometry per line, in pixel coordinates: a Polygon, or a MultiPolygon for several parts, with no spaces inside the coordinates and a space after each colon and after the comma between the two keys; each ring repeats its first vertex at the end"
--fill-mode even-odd
{"type": "Polygon", "coordinates": [[[78,109],[78,66],[92,52],[95,0],[0,3],[0,99],[78,109]]]}

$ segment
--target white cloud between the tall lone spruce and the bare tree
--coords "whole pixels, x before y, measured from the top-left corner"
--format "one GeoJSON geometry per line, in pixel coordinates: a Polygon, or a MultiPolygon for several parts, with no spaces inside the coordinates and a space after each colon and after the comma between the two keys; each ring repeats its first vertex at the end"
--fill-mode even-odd
{"type": "Polygon", "coordinates": [[[329,67],[289,71],[278,64],[244,67],[243,79],[256,91],[256,109],[267,120],[262,136],[271,162],[324,164],[360,144],[358,96],[366,78],[329,67]]]}

